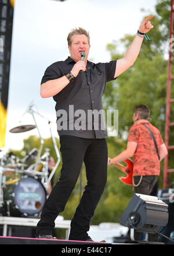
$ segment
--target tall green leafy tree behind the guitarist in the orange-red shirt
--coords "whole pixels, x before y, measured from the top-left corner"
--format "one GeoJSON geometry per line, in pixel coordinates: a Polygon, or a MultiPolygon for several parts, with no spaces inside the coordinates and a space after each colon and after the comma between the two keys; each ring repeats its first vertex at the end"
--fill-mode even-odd
{"type": "MultiPolygon", "coordinates": [[[[161,1],[159,2],[159,5],[162,5],[161,1]]],[[[166,5],[168,2],[169,1],[166,1],[166,5]]],[[[164,28],[164,26],[161,26],[161,19],[164,18],[160,16],[161,9],[159,5],[157,5],[159,16],[153,18],[152,22],[154,28],[148,34],[151,41],[147,42],[144,39],[142,49],[135,64],[125,71],[125,73],[121,74],[117,80],[110,82],[106,86],[106,91],[104,93],[103,104],[105,108],[118,109],[119,111],[118,138],[125,138],[125,142],[129,128],[132,125],[133,111],[138,104],[147,104],[147,106],[150,107],[151,123],[160,129],[163,138],[165,135],[168,60],[166,60],[165,57],[166,30],[165,36],[161,37],[161,30],[164,28]]],[[[167,13],[169,15],[168,11],[167,13]]],[[[163,12],[162,14],[164,15],[163,12]]],[[[164,16],[166,17],[166,13],[164,16]]],[[[124,56],[118,53],[118,45],[122,45],[126,51],[131,44],[133,37],[131,35],[126,35],[119,41],[119,43],[113,42],[113,44],[107,46],[113,60],[124,56]]],[[[174,91],[172,91],[172,93],[173,92],[174,91]]],[[[171,114],[171,118],[172,117],[174,117],[173,113],[171,114]]],[[[108,140],[108,143],[112,143],[111,140],[108,140]]],[[[115,143],[114,140],[113,143],[115,143]]],[[[172,145],[174,143],[172,133],[171,143],[172,145]]],[[[120,152],[121,151],[122,150],[120,150],[120,152]]],[[[115,153],[115,155],[116,154],[117,153],[115,153]]],[[[172,160],[171,154],[169,154],[169,161],[172,160]]],[[[164,164],[162,163],[160,187],[162,187],[163,169],[164,164]]],[[[172,181],[172,178],[173,175],[171,175],[170,181],[172,181]]]]}

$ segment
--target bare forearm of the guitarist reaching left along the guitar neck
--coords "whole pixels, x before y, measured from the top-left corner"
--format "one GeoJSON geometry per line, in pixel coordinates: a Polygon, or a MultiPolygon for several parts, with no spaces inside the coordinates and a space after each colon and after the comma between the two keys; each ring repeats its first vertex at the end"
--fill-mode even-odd
{"type": "Polygon", "coordinates": [[[135,153],[136,147],[136,142],[128,141],[126,150],[124,150],[114,158],[108,158],[108,164],[120,163],[122,161],[125,161],[127,158],[132,157],[133,154],[135,153]]]}

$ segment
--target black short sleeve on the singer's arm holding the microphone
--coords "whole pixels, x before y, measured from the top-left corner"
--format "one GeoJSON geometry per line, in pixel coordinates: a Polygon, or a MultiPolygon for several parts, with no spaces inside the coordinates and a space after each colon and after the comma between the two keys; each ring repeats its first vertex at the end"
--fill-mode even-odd
{"type": "Polygon", "coordinates": [[[59,73],[59,69],[56,67],[56,64],[53,63],[48,68],[46,68],[44,76],[41,80],[41,85],[44,84],[44,82],[47,82],[49,80],[60,78],[61,74],[59,73]]]}

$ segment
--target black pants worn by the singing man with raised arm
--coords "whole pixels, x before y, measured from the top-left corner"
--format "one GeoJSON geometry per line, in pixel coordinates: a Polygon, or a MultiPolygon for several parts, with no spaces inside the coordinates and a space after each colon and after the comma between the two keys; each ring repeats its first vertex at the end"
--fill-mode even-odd
{"type": "Polygon", "coordinates": [[[52,235],[55,219],[66,206],[73,191],[84,161],[87,185],[81,201],[71,221],[69,239],[89,239],[89,222],[97,203],[102,196],[107,181],[106,139],[84,139],[75,136],[60,136],[62,168],[48,200],[42,208],[41,220],[37,225],[36,236],[52,235]]]}

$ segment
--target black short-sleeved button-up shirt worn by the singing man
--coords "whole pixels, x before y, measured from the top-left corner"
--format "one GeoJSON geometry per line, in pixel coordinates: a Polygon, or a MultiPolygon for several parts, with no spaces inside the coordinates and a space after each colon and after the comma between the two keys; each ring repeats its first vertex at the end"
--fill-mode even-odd
{"type": "MultiPolygon", "coordinates": [[[[73,81],[53,96],[56,101],[59,136],[72,135],[90,139],[107,137],[101,115],[102,95],[106,83],[114,80],[116,63],[116,60],[97,64],[88,61],[86,71],[80,71],[73,81]]],[[[46,68],[41,84],[70,73],[74,64],[71,57],[53,63],[46,68]]]]}

